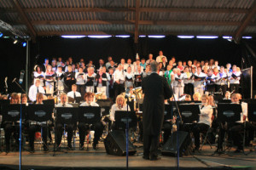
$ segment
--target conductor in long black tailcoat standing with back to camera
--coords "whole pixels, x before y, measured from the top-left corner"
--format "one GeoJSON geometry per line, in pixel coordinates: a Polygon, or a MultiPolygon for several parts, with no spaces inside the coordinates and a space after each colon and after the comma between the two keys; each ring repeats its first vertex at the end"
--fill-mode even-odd
{"type": "Polygon", "coordinates": [[[164,121],[165,99],[172,97],[172,90],[164,77],[160,77],[158,63],[150,63],[152,73],[143,78],[143,159],[156,161],[160,130],[164,121]]]}

